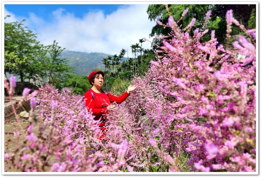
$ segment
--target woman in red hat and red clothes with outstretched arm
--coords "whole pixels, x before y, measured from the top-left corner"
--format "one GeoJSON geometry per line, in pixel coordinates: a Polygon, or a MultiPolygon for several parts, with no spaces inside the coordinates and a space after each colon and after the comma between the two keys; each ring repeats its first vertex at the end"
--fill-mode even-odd
{"type": "MultiPolygon", "coordinates": [[[[108,110],[114,109],[116,105],[111,105],[111,103],[116,102],[117,104],[122,103],[129,95],[130,92],[134,91],[137,85],[131,85],[128,87],[127,91],[120,97],[116,97],[106,91],[101,90],[104,84],[104,72],[103,71],[93,71],[89,74],[88,81],[92,85],[84,95],[84,100],[86,101],[86,107],[88,112],[92,111],[94,115],[94,120],[99,120],[101,118],[101,123],[99,124],[102,134],[100,140],[104,137],[104,132],[106,130],[106,113],[108,110]]],[[[100,133],[100,132],[99,132],[100,133]]]]}

